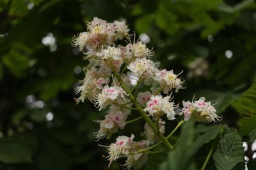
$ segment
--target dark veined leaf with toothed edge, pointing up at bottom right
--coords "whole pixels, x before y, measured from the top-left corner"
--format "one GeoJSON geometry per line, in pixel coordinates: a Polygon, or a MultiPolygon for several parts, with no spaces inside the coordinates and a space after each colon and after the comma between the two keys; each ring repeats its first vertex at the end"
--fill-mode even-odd
{"type": "Polygon", "coordinates": [[[244,162],[243,143],[237,132],[225,134],[213,159],[218,170],[232,169],[238,162],[244,162]]]}

